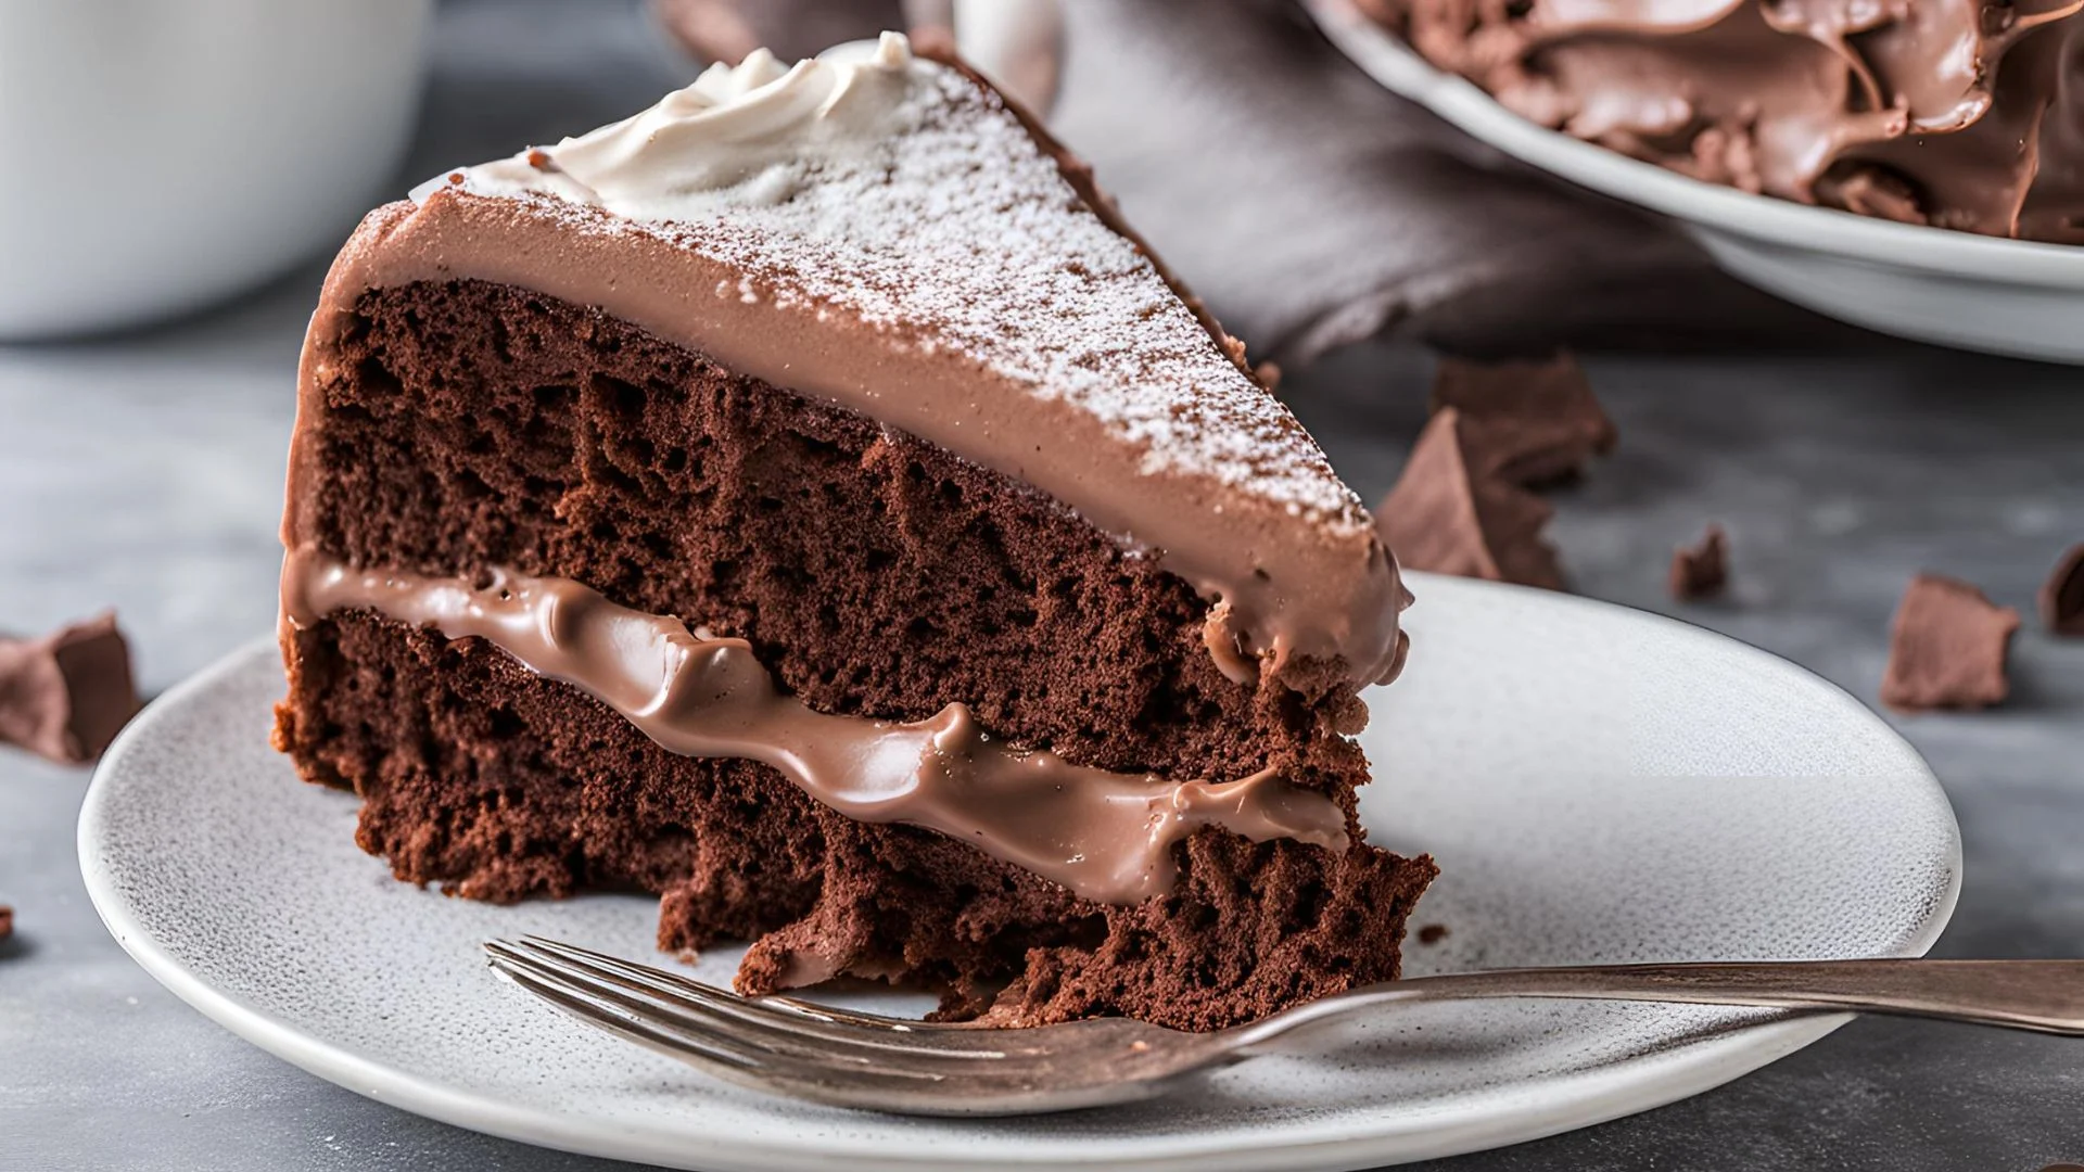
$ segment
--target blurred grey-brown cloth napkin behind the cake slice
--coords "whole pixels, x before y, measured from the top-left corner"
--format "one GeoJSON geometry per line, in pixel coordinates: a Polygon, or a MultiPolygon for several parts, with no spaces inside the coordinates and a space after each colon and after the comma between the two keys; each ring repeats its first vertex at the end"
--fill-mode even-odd
{"type": "MultiPolygon", "coordinates": [[[[736,2],[763,25],[779,15],[736,2]]],[[[786,8],[869,35],[892,4],[786,8]]],[[[1475,355],[1851,334],[1723,277],[1669,223],[1382,90],[1292,0],[1063,8],[1050,127],[1255,359],[1292,369],[1384,332],[1475,355]]]]}

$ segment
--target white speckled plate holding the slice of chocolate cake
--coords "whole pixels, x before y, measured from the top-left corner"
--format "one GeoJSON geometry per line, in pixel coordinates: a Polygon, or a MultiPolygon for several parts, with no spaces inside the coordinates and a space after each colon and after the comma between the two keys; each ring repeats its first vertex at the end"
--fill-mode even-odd
{"type": "MultiPolygon", "coordinates": [[[[1442,878],[1411,972],[1917,955],[1959,836],[1917,755],[1761,651],[1603,603],[1413,576],[1411,669],[1371,697],[1375,838],[1442,878]]],[[[354,801],[267,747],[256,642],[154,703],[79,820],[88,888],[185,1001],[304,1070],[467,1128],[673,1168],[1365,1168],[1609,1120],[1715,1086],[1842,1018],[1673,1005],[1440,1005],[1175,1099],[904,1120],[769,1099],[500,984],[488,936],[652,957],[642,897],[488,907],[392,882],[354,801]]],[[[736,955],[704,957],[711,980],[736,955]]],[[[873,995],[867,1001],[877,1001],[873,995]]],[[[921,1005],[886,997],[884,1005],[921,1005]]]]}

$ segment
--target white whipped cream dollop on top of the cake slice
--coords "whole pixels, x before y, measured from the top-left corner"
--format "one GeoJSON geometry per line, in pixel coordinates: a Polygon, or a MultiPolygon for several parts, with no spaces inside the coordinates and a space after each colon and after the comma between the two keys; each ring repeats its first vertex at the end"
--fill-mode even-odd
{"type": "Polygon", "coordinates": [[[765,48],[711,65],[692,86],[619,123],[444,173],[415,202],[456,186],[542,194],[642,221],[700,221],[782,204],[838,156],[913,129],[927,77],[902,33],[782,65],[765,48]]]}

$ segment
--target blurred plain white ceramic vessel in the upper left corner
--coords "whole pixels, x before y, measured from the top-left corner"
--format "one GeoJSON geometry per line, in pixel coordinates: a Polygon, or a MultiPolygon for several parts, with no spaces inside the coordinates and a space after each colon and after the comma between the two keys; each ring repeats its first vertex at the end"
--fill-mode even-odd
{"type": "Polygon", "coordinates": [[[392,181],[431,0],[0,4],[0,340],[208,304],[392,181]]]}

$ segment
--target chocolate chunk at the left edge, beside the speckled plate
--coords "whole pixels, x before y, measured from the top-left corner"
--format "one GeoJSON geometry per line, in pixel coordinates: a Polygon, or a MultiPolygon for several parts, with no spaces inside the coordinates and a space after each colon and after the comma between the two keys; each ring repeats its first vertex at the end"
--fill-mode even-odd
{"type": "Polygon", "coordinates": [[[44,638],[0,638],[0,742],[52,761],[94,761],[138,713],[115,613],[44,638]]]}

